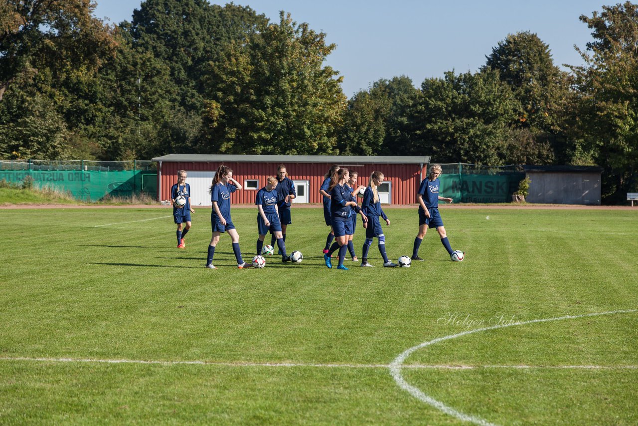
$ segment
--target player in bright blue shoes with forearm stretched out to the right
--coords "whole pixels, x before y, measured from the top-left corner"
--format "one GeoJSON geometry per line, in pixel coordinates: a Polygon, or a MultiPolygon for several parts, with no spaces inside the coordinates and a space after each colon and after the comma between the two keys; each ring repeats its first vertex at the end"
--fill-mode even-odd
{"type": "Polygon", "coordinates": [[[337,269],[347,271],[348,268],[343,266],[343,260],[346,257],[346,249],[348,247],[348,235],[352,234],[352,209],[355,209],[357,213],[361,213],[361,217],[364,221],[364,227],[366,227],[367,218],[363,211],[357,206],[357,202],[350,201],[352,199],[352,193],[348,191],[344,184],[350,179],[348,169],[339,169],[334,176],[334,179],[330,182],[328,187],[330,191],[330,213],[332,218],[332,229],[334,230],[334,237],[337,240],[328,252],[323,254],[325,260],[325,266],[332,268],[332,261],[330,256],[333,252],[339,249],[339,265],[337,269]]]}

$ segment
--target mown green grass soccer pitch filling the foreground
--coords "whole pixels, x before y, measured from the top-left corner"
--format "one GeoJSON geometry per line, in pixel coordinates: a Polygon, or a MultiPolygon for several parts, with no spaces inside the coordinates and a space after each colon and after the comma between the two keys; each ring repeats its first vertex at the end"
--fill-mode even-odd
{"type": "MultiPolygon", "coordinates": [[[[396,261],[417,213],[386,213],[396,261]]],[[[249,261],[256,209],[232,215],[249,261]]],[[[301,264],[237,270],[223,235],[207,270],[207,209],[186,250],[166,208],[0,209],[0,423],[460,424],[399,387],[390,363],[499,321],[565,316],[580,317],[443,340],[401,374],[485,424],[638,423],[638,312],[582,317],[638,309],[637,213],[441,216],[463,262],[429,230],[412,268],[382,268],[375,240],[376,268],[328,270],[321,209],[293,208],[286,247],[301,264]]]]}

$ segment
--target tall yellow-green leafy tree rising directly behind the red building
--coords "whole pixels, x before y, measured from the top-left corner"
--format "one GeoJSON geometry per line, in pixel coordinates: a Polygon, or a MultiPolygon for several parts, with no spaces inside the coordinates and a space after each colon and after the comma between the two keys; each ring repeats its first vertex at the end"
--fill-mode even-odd
{"type": "Polygon", "coordinates": [[[279,24],[234,42],[204,78],[201,150],[222,153],[327,154],[336,146],[346,98],[341,77],[323,61],[335,48],[325,34],[279,24]]]}

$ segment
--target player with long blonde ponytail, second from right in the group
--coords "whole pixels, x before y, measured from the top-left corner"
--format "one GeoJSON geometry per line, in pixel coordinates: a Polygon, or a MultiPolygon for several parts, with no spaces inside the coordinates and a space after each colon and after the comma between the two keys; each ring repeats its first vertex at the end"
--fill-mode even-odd
{"type": "Polygon", "coordinates": [[[385,224],[390,225],[390,219],[383,213],[383,209],[381,208],[381,201],[379,200],[379,192],[377,190],[377,187],[383,183],[383,177],[382,172],[372,172],[369,185],[363,194],[363,201],[361,202],[361,209],[368,219],[366,242],[363,243],[361,266],[372,266],[367,262],[367,252],[372,245],[372,239],[374,237],[379,241],[379,252],[383,256],[383,266],[386,268],[397,266],[396,263],[392,263],[392,261],[388,259],[388,255],[385,253],[385,235],[383,235],[379,222],[379,217],[382,217],[383,220],[385,220],[385,224]]]}

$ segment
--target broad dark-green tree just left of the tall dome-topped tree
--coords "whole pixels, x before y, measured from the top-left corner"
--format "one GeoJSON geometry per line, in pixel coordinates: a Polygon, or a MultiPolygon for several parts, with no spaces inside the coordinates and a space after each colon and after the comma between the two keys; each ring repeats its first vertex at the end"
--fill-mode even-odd
{"type": "Polygon", "coordinates": [[[502,165],[517,102],[498,72],[426,79],[410,117],[414,155],[436,162],[502,165]]]}

